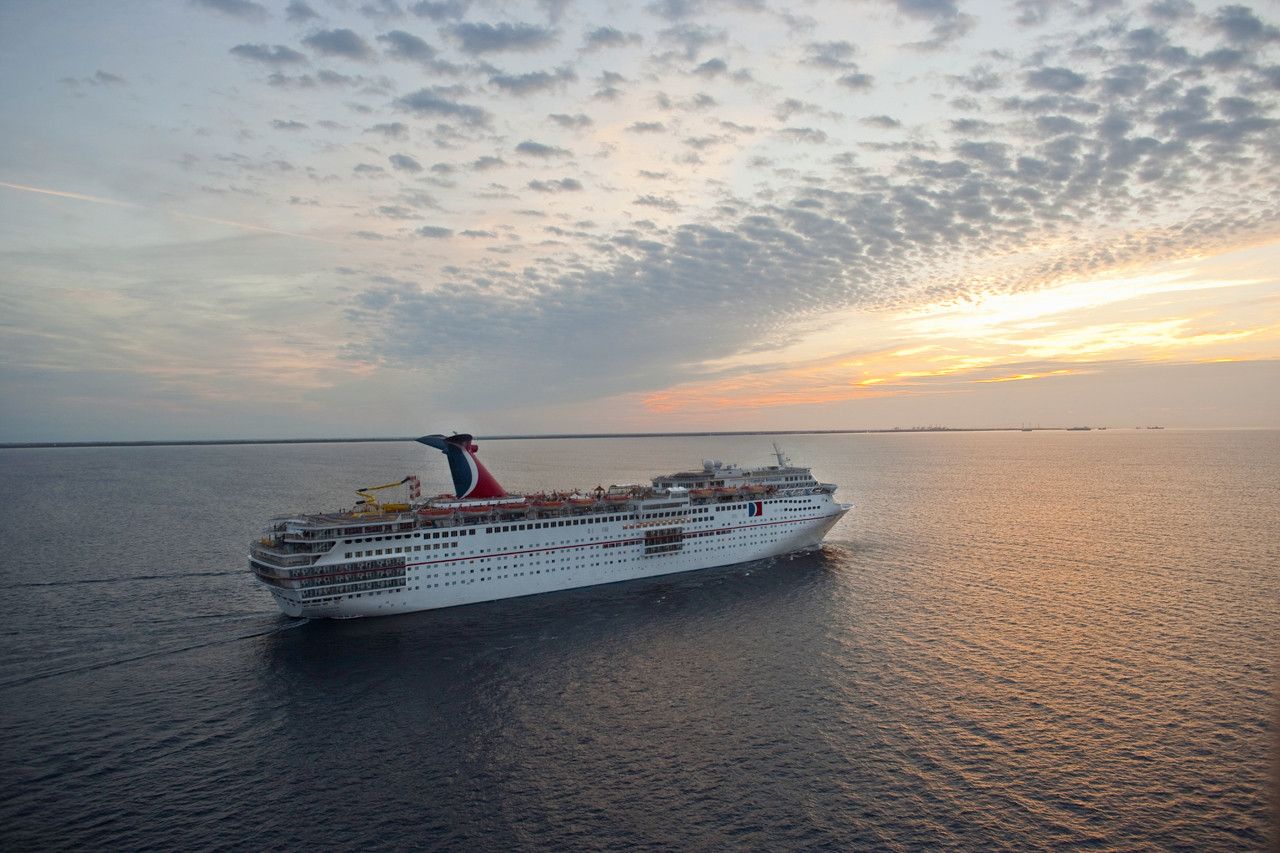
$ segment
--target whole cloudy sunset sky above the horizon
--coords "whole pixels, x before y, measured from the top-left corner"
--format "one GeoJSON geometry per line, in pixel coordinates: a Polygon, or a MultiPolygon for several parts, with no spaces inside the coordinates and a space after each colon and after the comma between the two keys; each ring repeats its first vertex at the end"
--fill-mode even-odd
{"type": "Polygon", "coordinates": [[[1280,426],[1280,5],[6,0],[0,442],[1280,426]]]}

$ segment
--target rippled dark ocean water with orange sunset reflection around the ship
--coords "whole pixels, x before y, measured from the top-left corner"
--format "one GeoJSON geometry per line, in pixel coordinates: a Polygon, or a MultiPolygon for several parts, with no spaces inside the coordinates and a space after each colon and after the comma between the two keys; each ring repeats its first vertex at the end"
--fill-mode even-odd
{"type": "MultiPolygon", "coordinates": [[[[481,442],[511,489],[767,438],[481,442]]],[[[0,451],[5,850],[1258,850],[1280,433],[780,439],[814,553],[370,620],[279,615],[270,515],[417,444],[0,451]]]]}

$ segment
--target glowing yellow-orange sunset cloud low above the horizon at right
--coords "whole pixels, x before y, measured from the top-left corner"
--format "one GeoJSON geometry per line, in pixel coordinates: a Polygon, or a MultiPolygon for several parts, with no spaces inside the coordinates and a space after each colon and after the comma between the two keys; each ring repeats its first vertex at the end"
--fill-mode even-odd
{"type": "MultiPolygon", "coordinates": [[[[1188,268],[1138,279],[1082,282],[1061,292],[879,315],[879,333],[887,343],[874,351],[828,350],[809,357],[797,351],[790,362],[772,364],[722,361],[714,365],[716,379],[646,394],[643,406],[673,414],[936,396],[972,391],[974,383],[1094,373],[1102,369],[1100,364],[1112,361],[1280,356],[1280,305],[1266,286],[1254,279],[1203,280],[1207,272],[1208,265],[1204,272],[1188,268]],[[1254,291],[1262,296],[1251,298],[1254,291]],[[1240,307],[1242,302],[1248,307],[1240,307]],[[928,343],[901,346],[911,339],[928,343]]],[[[856,334],[865,334],[858,318],[850,321],[856,334]]],[[[837,327],[820,339],[832,345],[840,337],[837,327]]]]}

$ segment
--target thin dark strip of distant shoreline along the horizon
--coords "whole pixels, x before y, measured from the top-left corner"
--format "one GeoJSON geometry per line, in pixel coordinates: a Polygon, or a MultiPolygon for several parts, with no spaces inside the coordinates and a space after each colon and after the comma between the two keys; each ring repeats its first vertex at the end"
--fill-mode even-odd
{"type": "MultiPolygon", "coordinates": [[[[507,442],[534,439],[584,438],[717,438],[732,435],[863,435],[896,433],[1018,433],[1018,432],[1069,432],[1079,426],[911,426],[906,429],[750,429],[750,430],[695,430],[680,433],[548,433],[543,435],[476,435],[477,442],[507,442]]],[[[1106,430],[1106,426],[1096,426],[1106,430]]],[[[1124,428],[1116,428],[1124,429],[1124,428]]],[[[1129,428],[1134,429],[1134,428],[1129,428]]],[[[1164,429],[1138,426],[1137,429],[1164,429]]],[[[134,441],[134,442],[8,442],[0,450],[49,450],[55,447],[216,447],[219,444],[360,444],[369,442],[412,442],[416,435],[381,438],[207,438],[186,441],[134,441]]]]}

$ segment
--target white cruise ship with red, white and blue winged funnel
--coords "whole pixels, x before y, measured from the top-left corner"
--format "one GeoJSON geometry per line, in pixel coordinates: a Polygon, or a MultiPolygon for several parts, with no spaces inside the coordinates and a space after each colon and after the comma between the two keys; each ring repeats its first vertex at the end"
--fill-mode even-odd
{"type": "Polygon", "coordinates": [[[454,494],[422,498],[410,475],[357,489],[348,511],[273,519],[250,544],[282,612],[387,616],[730,566],[815,548],[850,510],[777,444],[777,465],[705,461],[649,485],[508,494],[471,435],[417,441],[445,455],[454,494]]]}

